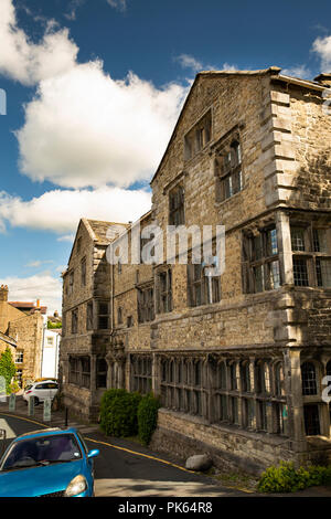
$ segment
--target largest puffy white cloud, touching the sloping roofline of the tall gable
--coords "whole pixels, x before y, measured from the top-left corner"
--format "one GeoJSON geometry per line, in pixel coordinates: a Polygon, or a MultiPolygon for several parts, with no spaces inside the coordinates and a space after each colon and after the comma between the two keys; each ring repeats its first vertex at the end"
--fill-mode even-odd
{"type": "Polygon", "coordinates": [[[128,187],[161,160],[186,87],[163,89],[129,73],[114,81],[102,62],[41,82],[17,131],[21,171],[61,187],[128,187]]]}

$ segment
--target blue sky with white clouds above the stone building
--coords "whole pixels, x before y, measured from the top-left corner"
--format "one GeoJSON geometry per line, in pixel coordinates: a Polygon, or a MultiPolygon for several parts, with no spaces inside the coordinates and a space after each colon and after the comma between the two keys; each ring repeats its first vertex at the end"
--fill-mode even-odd
{"type": "Polygon", "coordinates": [[[331,3],[0,0],[0,283],[61,309],[79,218],[137,219],[200,70],[331,71],[331,3]]]}

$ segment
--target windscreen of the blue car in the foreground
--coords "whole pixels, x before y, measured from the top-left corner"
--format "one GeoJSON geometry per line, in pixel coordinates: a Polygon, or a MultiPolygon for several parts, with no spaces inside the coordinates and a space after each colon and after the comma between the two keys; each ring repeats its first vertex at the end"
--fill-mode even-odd
{"type": "Polygon", "coordinates": [[[50,465],[82,458],[82,452],[74,434],[54,434],[21,439],[12,445],[0,469],[50,465]]]}

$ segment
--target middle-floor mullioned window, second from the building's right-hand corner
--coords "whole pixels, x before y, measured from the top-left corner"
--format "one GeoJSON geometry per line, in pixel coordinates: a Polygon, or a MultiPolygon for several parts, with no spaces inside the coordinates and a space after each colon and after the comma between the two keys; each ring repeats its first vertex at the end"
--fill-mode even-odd
{"type": "Polygon", "coordinates": [[[206,276],[201,264],[188,265],[188,304],[191,307],[218,303],[220,276],[206,276]]]}

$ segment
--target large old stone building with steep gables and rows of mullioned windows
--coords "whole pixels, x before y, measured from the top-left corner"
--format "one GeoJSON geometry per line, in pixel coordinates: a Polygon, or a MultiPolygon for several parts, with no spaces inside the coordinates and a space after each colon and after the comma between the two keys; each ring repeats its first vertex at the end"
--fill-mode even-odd
{"type": "MultiPolygon", "coordinates": [[[[97,410],[103,350],[106,386],[160,395],[156,448],[210,452],[215,463],[252,472],[280,459],[331,459],[323,392],[331,375],[328,86],[331,75],[303,81],[278,67],[196,75],[141,223],[163,236],[169,225],[212,226],[213,261],[215,229],[224,225],[225,269],[206,276],[211,265],[194,263],[192,240],[188,264],[107,266],[104,245],[107,280],[97,286],[109,320],[89,352],[87,415],[97,410]]],[[[73,319],[71,262],[63,308],[73,319]]],[[[87,354],[79,333],[66,336],[64,361],[75,343],[87,354]]]]}

